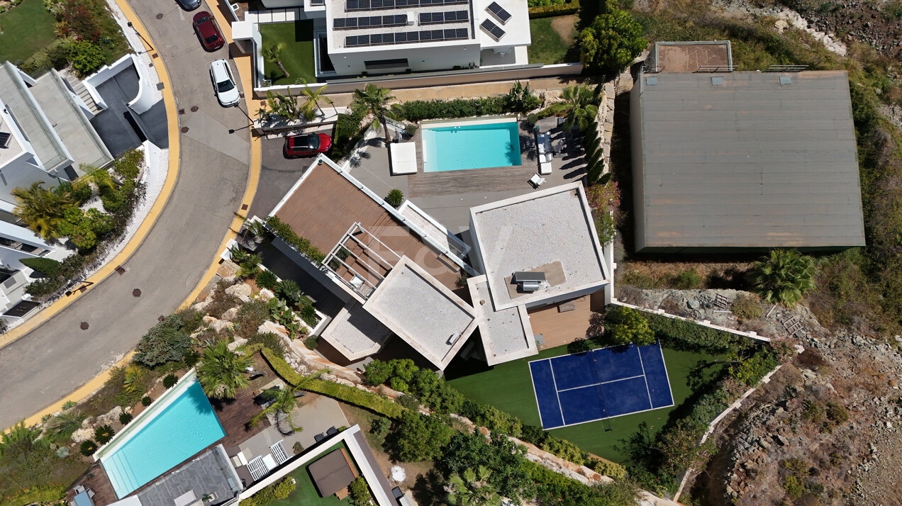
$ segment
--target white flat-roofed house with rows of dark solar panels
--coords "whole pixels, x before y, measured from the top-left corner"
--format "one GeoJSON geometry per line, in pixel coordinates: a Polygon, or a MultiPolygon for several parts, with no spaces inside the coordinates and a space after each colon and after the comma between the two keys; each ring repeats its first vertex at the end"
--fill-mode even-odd
{"type": "Polygon", "coordinates": [[[338,75],[529,63],[525,0],[334,0],[326,22],[338,75]]]}

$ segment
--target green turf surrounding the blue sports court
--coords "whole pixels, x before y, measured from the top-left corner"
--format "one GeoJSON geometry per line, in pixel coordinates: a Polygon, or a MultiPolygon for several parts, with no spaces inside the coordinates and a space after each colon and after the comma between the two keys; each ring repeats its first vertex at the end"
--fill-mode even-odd
{"type": "MultiPolygon", "coordinates": [[[[529,375],[529,362],[539,358],[547,358],[566,354],[566,346],[558,346],[531,356],[494,366],[488,371],[465,376],[461,369],[449,368],[446,373],[451,386],[461,391],[466,397],[511,413],[524,423],[541,426],[538,419],[536,395],[532,389],[532,378],[529,375]]],[[[679,407],[691,394],[687,384],[690,370],[699,360],[713,360],[708,354],[681,352],[664,349],[664,361],[667,364],[667,376],[670,379],[670,390],[673,392],[675,407],[662,408],[609,419],[612,430],[605,431],[603,422],[584,423],[567,428],[556,428],[550,432],[563,437],[595,455],[603,456],[614,462],[622,462],[623,455],[613,446],[621,446],[621,439],[630,437],[641,422],[647,422],[653,432],[657,432],[667,422],[668,415],[679,407]]],[[[452,363],[459,367],[460,363],[452,363]]],[[[711,372],[711,371],[709,371],[711,372]]]]}

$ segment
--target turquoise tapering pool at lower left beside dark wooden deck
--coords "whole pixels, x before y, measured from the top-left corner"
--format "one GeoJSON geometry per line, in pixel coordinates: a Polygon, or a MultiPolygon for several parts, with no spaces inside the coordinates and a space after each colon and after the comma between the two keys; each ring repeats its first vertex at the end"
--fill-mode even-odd
{"type": "Polygon", "coordinates": [[[224,436],[204,390],[194,382],[100,461],[121,499],[224,436]]]}

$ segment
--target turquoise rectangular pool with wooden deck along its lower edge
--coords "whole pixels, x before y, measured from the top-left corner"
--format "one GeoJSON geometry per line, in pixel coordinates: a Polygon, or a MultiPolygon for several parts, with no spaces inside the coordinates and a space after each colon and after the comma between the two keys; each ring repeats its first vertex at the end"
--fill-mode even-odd
{"type": "Polygon", "coordinates": [[[423,170],[484,169],[520,165],[516,122],[423,128],[423,170]]]}

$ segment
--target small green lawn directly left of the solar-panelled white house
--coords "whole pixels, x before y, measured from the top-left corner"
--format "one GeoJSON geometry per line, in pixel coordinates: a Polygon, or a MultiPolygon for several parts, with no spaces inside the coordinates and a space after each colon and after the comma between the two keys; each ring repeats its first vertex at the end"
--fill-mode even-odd
{"type": "Polygon", "coordinates": [[[307,82],[316,82],[313,60],[313,22],[296,21],[294,23],[267,23],[260,25],[260,35],[265,45],[267,42],[285,42],[281,62],[289,73],[285,78],[279,66],[266,61],[263,72],[273,85],[294,84],[299,78],[307,82]]]}

